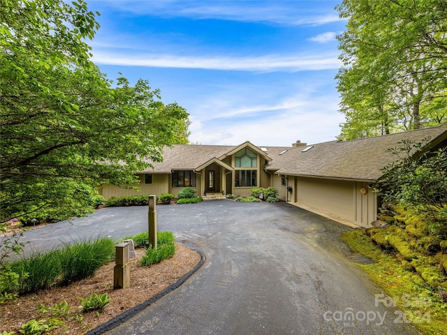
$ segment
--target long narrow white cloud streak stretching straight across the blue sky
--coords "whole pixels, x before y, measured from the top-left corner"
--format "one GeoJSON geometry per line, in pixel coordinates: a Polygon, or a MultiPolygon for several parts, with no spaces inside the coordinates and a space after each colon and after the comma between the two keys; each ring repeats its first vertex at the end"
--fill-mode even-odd
{"type": "Polygon", "coordinates": [[[302,71],[339,68],[337,54],[333,55],[265,55],[258,57],[193,57],[159,54],[124,55],[94,52],[96,64],[146,66],[156,68],[200,68],[207,70],[239,71],[302,71]]]}

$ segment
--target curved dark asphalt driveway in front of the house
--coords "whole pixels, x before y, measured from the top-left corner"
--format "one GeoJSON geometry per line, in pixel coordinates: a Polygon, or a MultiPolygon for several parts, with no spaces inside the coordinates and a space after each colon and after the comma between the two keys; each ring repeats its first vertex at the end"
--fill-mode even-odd
{"type": "MultiPolygon", "coordinates": [[[[196,246],[206,261],[177,290],[104,334],[419,334],[339,239],[351,228],[279,202],[157,206],[158,230],[196,246]]],[[[147,207],[108,208],[25,234],[52,248],[98,234],[147,230],[147,207]]]]}

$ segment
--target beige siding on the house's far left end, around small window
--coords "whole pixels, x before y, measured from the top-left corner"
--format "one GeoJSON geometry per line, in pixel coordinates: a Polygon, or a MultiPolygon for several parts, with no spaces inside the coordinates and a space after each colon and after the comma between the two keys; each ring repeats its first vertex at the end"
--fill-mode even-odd
{"type": "Polygon", "coordinates": [[[152,184],[145,184],[145,175],[139,174],[140,184],[138,184],[138,188],[140,191],[122,188],[113,185],[106,185],[101,189],[101,195],[103,195],[105,200],[108,200],[112,197],[128,197],[131,195],[161,195],[162,193],[168,193],[168,181],[169,174],[152,174],[152,184]]]}

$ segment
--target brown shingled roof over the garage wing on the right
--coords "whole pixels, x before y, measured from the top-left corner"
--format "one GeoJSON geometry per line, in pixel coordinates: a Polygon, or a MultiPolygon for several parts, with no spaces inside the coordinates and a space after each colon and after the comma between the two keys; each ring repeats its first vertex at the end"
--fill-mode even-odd
{"type": "Polygon", "coordinates": [[[420,142],[425,137],[430,137],[433,145],[445,142],[447,126],[295,147],[272,157],[267,170],[296,176],[376,181],[383,175],[381,169],[396,159],[388,149],[399,147],[402,140],[420,142]]]}

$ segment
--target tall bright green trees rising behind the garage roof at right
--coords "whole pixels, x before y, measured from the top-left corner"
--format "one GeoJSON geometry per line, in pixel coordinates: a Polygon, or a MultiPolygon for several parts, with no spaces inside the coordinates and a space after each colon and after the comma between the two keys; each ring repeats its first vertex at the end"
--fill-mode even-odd
{"type": "Polygon", "coordinates": [[[344,66],[337,88],[346,115],[340,137],[445,123],[446,1],[344,0],[337,10],[348,19],[338,36],[344,66]]]}

